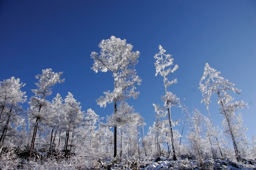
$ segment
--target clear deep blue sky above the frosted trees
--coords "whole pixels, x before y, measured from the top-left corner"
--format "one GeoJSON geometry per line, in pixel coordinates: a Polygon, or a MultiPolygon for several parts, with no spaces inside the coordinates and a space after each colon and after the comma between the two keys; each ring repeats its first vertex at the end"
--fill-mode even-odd
{"type": "MultiPolygon", "coordinates": [[[[113,89],[113,77],[94,73],[90,54],[99,52],[98,44],[111,35],[140,51],[136,66],[142,78],[140,95],[128,103],[145,118],[147,127],[155,121],[152,103],[162,104],[164,95],[153,58],[161,44],[179,65],[170,77],[178,83],[169,91],[190,111],[196,107],[206,115],[198,86],[208,62],[242,90],[232,96],[248,103],[249,109],[240,112],[249,128],[247,135],[256,135],[255,0],[1,0],[0,81],[20,78],[29,99],[42,69],[63,71],[65,82],[55,85],[47,99],[71,92],[82,110],[91,108],[106,117],[113,105],[103,109],[95,99],[113,89]]],[[[218,109],[210,105],[215,125],[223,119],[218,109]]],[[[172,117],[183,120],[180,110],[173,109],[172,117]]]]}

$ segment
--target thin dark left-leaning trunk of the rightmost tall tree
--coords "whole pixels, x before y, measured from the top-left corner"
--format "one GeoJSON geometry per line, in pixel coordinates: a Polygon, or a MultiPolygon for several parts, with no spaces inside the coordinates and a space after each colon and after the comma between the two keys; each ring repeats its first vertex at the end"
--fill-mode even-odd
{"type": "MultiPolygon", "coordinates": [[[[219,99],[220,99],[221,96],[220,96],[219,91],[217,91],[217,94],[218,94],[218,97],[219,97],[219,99]]],[[[237,142],[236,142],[235,137],[234,137],[234,135],[233,135],[233,130],[232,130],[231,125],[230,125],[229,117],[228,117],[228,114],[227,114],[227,112],[226,112],[226,110],[225,110],[225,108],[224,108],[224,104],[223,104],[222,100],[220,100],[220,104],[221,104],[222,110],[223,110],[223,112],[224,112],[224,116],[225,116],[226,121],[227,121],[228,126],[229,126],[229,133],[230,133],[231,138],[232,138],[234,150],[235,150],[235,153],[236,153],[236,159],[237,159],[237,161],[241,161],[241,155],[240,155],[240,152],[239,152],[239,150],[238,150],[237,142]]]]}

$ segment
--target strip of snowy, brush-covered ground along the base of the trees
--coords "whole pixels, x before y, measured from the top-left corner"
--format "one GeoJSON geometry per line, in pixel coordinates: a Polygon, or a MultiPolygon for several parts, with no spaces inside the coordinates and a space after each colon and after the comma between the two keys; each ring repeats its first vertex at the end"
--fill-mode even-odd
{"type": "Polygon", "coordinates": [[[210,158],[198,161],[189,157],[178,157],[177,161],[172,161],[165,157],[138,159],[131,156],[120,161],[75,155],[68,159],[38,156],[28,162],[24,157],[9,152],[0,155],[0,170],[256,170],[256,159],[237,163],[229,159],[210,158]]]}

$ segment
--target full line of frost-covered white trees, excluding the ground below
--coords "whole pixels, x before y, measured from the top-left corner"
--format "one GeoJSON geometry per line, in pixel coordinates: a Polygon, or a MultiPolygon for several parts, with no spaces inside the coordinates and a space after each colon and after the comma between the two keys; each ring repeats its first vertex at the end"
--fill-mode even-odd
{"type": "Polygon", "coordinates": [[[229,94],[239,94],[240,90],[208,63],[200,81],[206,117],[197,109],[190,113],[179,98],[168,91],[170,85],[177,83],[176,78],[171,81],[168,78],[178,65],[174,65],[172,55],[165,54],[159,46],[159,53],[154,57],[155,76],[163,76],[164,104],[153,104],[156,120],[145,135],[144,119],[126,102],[139,94],[136,85],[140,85],[141,79],[135,69],[139,52],[132,51],[133,46],[126,40],[114,36],[102,40],[99,47],[100,54],[91,52],[94,61],[91,69],[96,73],[111,72],[114,82],[113,91],[104,92],[97,100],[101,107],[114,103],[113,114],[107,117],[106,123],[93,110],[82,111],[80,102],[70,92],[64,98],[58,93],[51,101],[48,99],[53,86],[64,82],[62,72],[42,70],[42,74],[36,76],[37,89],[32,89],[35,95],[29,99],[22,91],[25,84],[11,77],[0,82],[0,153],[5,152],[3,148],[16,147],[27,152],[28,161],[34,159],[38,151],[61,154],[62,158],[80,154],[85,158],[107,159],[114,155],[120,160],[125,156],[170,156],[176,160],[178,156],[190,155],[198,160],[228,157],[236,161],[256,157],[256,136],[252,141],[247,139],[242,116],[237,113],[247,104],[233,102],[229,94]],[[211,120],[212,95],[218,96],[223,130],[214,127],[211,120]],[[27,110],[22,108],[25,102],[29,104],[27,110]],[[184,114],[182,126],[189,129],[187,141],[183,131],[175,129],[178,122],[171,119],[172,107],[181,108],[184,114]]]}

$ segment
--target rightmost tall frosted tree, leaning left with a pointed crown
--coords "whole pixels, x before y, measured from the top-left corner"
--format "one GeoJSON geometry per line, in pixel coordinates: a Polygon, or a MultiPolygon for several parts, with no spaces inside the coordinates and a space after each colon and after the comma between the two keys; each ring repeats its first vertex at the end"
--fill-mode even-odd
{"type": "Polygon", "coordinates": [[[218,95],[218,104],[220,106],[220,114],[225,118],[225,121],[228,125],[228,132],[230,134],[235,156],[237,161],[241,161],[241,155],[238,150],[238,142],[234,135],[234,126],[231,124],[231,119],[235,117],[235,111],[238,109],[247,107],[243,101],[232,102],[233,98],[229,95],[228,91],[238,93],[241,90],[233,87],[234,84],[230,83],[229,80],[224,79],[222,76],[219,76],[220,72],[210,68],[209,64],[205,64],[204,73],[200,81],[200,89],[202,95],[204,96],[203,102],[208,107],[210,104],[210,97],[213,93],[218,95]]]}

